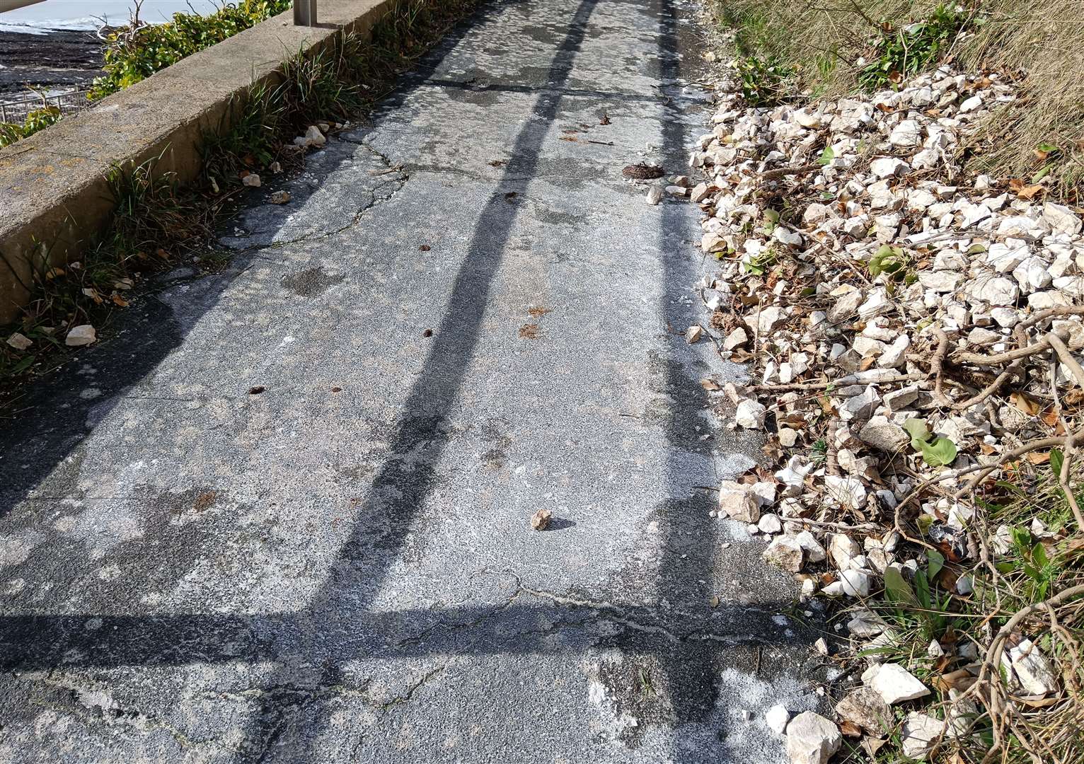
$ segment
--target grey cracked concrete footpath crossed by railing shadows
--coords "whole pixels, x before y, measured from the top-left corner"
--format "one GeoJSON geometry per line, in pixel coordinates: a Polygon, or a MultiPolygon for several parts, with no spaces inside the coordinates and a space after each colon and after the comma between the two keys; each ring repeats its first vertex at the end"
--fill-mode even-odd
{"type": "Polygon", "coordinates": [[[697,212],[621,178],[706,129],[691,15],[483,4],[20,401],[0,761],[785,760],[816,635],[709,517],[697,212]]]}

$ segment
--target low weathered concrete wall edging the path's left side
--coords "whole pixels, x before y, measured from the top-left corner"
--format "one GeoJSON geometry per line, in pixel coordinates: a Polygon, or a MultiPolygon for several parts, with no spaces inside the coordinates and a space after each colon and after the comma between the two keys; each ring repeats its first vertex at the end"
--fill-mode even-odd
{"type": "Polygon", "coordinates": [[[367,34],[398,2],[320,0],[318,27],[294,26],[287,11],[0,150],[0,323],[28,302],[33,262],[75,259],[108,224],[111,168],[160,155],[163,171],[193,180],[201,135],[229,127],[231,101],[339,29],[367,34]]]}

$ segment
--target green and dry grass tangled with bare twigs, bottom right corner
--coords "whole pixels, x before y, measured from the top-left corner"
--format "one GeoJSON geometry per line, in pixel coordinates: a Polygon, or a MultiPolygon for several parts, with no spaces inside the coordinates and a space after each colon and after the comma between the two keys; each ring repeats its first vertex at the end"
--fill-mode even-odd
{"type": "MultiPolygon", "coordinates": [[[[980,500],[977,564],[963,567],[947,548],[927,549],[909,581],[887,572],[882,595],[864,604],[888,626],[881,646],[859,657],[906,666],[933,692],[924,712],[946,722],[930,761],[1068,764],[1084,756],[1084,532],[1058,481],[1060,452],[1051,454],[1049,465],[1017,465],[1012,482],[999,481],[980,500]],[[1034,676],[1054,691],[1036,694],[1034,676]]],[[[1069,484],[1084,500],[1084,469],[1074,471],[1069,484]]],[[[893,711],[890,742],[907,710],[893,711]]],[[[898,751],[887,746],[883,761],[898,751]]],[[[850,760],[869,761],[865,755],[855,747],[850,760]]]]}

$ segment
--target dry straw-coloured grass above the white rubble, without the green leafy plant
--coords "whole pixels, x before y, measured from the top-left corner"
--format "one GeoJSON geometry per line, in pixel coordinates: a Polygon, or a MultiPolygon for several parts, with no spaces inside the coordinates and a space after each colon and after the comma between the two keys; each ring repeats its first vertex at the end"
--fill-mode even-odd
{"type": "MultiPolygon", "coordinates": [[[[739,55],[775,57],[796,76],[795,95],[839,95],[859,87],[882,24],[893,30],[930,16],[931,0],[713,0],[736,34],[739,55]]],[[[1084,181],[1082,0],[981,0],[957,7],[965,30],[939,53],[969,69],[1022,73],[1022,98],[1001,109],[968,146],[969,166],[1031,180],[1076,202],[1084,181]],[[1036,153],[1044,146],[1057,151],[1036,153]]]]}

